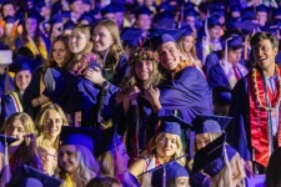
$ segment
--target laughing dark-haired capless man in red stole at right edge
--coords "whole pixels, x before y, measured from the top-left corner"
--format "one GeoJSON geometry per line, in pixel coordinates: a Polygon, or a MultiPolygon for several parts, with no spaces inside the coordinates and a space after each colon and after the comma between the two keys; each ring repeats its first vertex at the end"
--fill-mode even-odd
{"type": "Polygon", "coordinates": [[[276,147],[281,145],[280,86],[281,71],[275,64],[278,39],[268,33],[251,38],[255,64],[240,79],[232,92],[228,142],[234,146],[255,173],[263,173],[276,147]]]}

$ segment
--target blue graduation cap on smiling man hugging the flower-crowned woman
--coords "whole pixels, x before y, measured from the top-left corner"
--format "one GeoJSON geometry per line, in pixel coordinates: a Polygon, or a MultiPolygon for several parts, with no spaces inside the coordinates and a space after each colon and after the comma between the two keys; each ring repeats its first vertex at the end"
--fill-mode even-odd
{"type": "Polygon", "coordinates": [[[150,29],[148,40],[146,40],[143,46],[149,46],[156,49],[159,45],[162,45],[167,42],[174,42],[176,43],[177,40],[182,36],[184,30],[179,29],[150,29]]]}

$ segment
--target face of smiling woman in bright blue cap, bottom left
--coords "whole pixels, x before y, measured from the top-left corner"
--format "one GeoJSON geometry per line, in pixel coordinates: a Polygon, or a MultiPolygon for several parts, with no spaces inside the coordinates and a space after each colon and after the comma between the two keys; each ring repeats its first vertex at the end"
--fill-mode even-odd
{"type": "Polygon", "coordinates": [[[62,167],[67,173],[74,173],[77,171],[79,161],[77,159],[77,150],[74,145],[60,146],[58,151],[58,165],[62,167]]]}

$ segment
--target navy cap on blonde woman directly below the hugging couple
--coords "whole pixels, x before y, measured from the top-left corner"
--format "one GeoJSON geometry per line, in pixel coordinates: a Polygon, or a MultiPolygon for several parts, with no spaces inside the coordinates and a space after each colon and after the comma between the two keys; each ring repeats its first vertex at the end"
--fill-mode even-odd
{"type": "Polygon", "coordinates": [[[175,134],[181,136],[182,129],[191,129],[192,125],[183,119],[176,116],[162,116],[160,117],[160,126],[158,132],[175,134]]]}

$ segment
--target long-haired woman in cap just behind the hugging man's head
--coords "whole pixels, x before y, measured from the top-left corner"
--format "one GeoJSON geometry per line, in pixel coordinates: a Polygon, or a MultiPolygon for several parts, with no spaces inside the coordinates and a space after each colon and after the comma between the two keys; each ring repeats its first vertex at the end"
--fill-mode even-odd
{"type": "Polygon", "coordinates": [[[183,60],[190,62],[203,73],[202,63],[196,55],[196,36],[192,28],[189,27],[185,28],[184,34],[178,39],[178,46],[183,60]]]}

